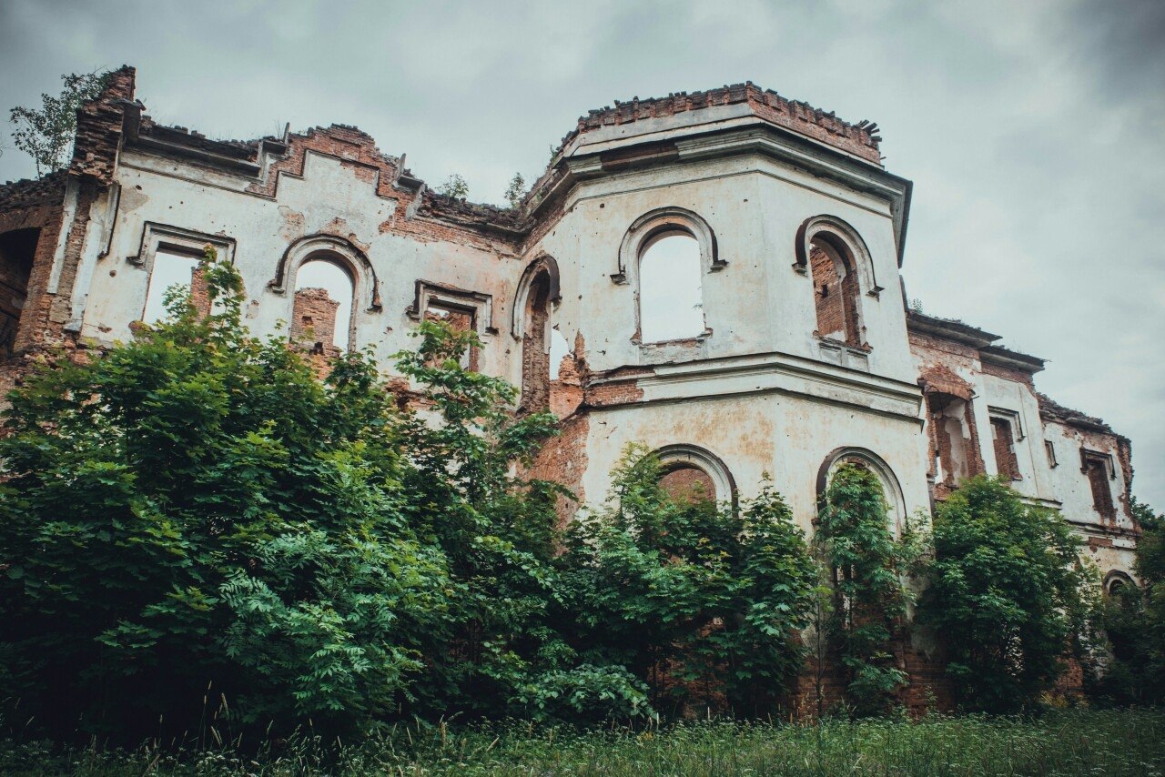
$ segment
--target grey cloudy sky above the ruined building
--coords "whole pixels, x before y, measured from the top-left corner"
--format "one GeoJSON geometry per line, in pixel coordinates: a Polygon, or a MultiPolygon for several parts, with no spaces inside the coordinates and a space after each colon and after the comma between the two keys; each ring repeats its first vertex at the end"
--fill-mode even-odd
{"type": "MultiPolygon", "coordinates": [[[[160,121],[353,123],[495,203],[615,99],[753,80],[875,120],[915,182],[908,294],[1048,359],[1039,387],[1129,435],[1165,509],[1160,0],[0,0],[0,107],[122,63],[160,121]]],[[[0,144],[0,181],[33,172],[0,144]]]]}

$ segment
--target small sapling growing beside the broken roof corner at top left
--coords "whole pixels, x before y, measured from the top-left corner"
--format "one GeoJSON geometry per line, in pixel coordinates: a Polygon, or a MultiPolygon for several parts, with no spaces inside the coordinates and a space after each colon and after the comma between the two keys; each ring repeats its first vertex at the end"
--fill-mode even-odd
{"type": "Polygon", "coordinates": [[[64,89],[55,97],[41,94],[40,111],[16,106],[8,112],[9,120],[15,125],[13,141],[16,148],[33,157],[37,177],[69,164],[77,132],[77,110],[101,92],[108,75],[107,71],[94,71],[62,76],[64,89]]]}

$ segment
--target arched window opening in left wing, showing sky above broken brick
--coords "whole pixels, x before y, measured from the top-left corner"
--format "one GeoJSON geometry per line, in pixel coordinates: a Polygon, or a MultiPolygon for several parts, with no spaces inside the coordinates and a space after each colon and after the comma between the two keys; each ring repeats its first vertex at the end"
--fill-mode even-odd
{"type": "Polygon", "coordinates": [[[352,345],[352,275],[326,255],[296,270],[291,341],[312,353],[337,356],[352,345]]]}

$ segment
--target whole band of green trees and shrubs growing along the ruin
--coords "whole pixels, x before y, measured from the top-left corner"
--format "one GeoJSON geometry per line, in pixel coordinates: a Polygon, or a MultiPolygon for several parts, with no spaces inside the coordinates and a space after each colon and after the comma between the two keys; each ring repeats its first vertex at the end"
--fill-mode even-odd
{"type": "MultiPolygon", "coordinates": [[[[939,507],[931,553],[909,524],[896,532],[875,473],[843,464],[810,548],[771,488],[739,504],[673,496],[659,460],[631,446],[605,506],[563,528],[571,495],[528,476],[555,419],[515,417],[514,387],[461,366],[473,332],[422,323],[417,348],[396,354],[409,396],[384,388],[369,353],[320,381],[285,338],[246,331],[240,277],[210,248],[204,274],[209,315],[176,287],[165,320],[101,356],[45,359],[10,396],[0,685],[21,742],[153,737],[158,763],[167,748],[266,742],[273,764],[302,746],[317,765],[326,742],[345,763],[439,770],[463,754],[430,764],[400,749],[428,730],[416,721],[633,722],[640,734],[610,736],[634,748],[663,719],[784,719],[809,654],[840,658],[850,711],[885,713],[908,681],[896,651],[912,579],[929,586],[923,613],[966,709],[1031,709],[1073,650],[1103,658],[1100,697],[1160,699],[1165,543],[1143,507],[1145,588],[1109,603],[1108,654],[1088,642],[1096,580],[1079,539],[998,480],[939,507]]],[[[516,730],[490,735],[524,763],[516,730]]],[[[706,730],[761,764],[803,744],[799,729],[763,729],[788,750],[751,739],[762,728],[706,730]]],[[[460,735],[473,763],[500,757],[483,732],[460,735]]],[[[603,741],[571,736],[579,753],[603,741]]],[[[809,771],[849,763],[814,753],[809,771]]]]}

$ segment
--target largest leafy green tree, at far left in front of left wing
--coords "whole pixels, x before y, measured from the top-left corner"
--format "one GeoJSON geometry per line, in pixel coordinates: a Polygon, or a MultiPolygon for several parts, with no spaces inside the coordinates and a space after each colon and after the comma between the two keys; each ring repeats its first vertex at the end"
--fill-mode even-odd
{"type": "Polygon", "coordinates": [[[240,722],[359,726],[439,620],[446,563],[401,509],[374,366],[318,382],[245,333],[234,269],[205,267],[216,312],[171,289],[168,320],[12,395],[0,672],[50,727],[193,730],[204,695],[240,722]]]}

